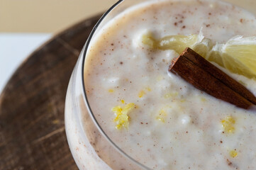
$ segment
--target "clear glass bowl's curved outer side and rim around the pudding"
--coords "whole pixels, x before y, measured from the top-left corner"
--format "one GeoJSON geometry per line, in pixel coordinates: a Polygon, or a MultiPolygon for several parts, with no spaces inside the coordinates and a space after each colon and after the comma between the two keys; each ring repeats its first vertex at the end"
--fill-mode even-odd
{"type": "MultiPolygon", "coordinates": [[[[69,81],[65,103],[65,129],[69,148],[79,169],[150,169],[123,152],[106,135],[91,112],[84,90],[84,60],[89,43],[112,18],[130,6],[150,0],[120,0],[104,13],[91,31],[69,81]]],[[[255,0],[226,0],[256,13],[255,0]]]]}

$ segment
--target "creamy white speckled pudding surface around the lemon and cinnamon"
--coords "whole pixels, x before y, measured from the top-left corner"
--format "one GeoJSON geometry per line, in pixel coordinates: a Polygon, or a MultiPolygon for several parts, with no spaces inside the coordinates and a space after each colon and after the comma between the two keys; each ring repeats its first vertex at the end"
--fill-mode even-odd
{"type": "MultiPolygon", "coordinates": [[[[149,32],[162,38],[200,30],[223,43],[235,35],[255,36],[256,19],[230,4],[195,0],[148,1],[113,18],[87,51],[91,110],[108,137],[150,169],[256,169],[256,112],[169,73],[179,54],[152,50],[141,40],[149,32]],[[129,118],[121,123],[125,112],[129,118]]],[[[256,94],[255,80],[223,71],[256,94]]]]}

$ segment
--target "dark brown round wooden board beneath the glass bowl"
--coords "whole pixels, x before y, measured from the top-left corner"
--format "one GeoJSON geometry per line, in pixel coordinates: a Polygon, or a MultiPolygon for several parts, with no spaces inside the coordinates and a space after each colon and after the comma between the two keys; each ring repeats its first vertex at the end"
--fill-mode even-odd
{"type": "MultiPolygon", "coordinates": [[[[101,15],[99,15],[101,16],[101,15]]],[[[0,96],[0,169],[77,169],[67,145],[65,95],[89,18],[33,52],[0,96]]]]}

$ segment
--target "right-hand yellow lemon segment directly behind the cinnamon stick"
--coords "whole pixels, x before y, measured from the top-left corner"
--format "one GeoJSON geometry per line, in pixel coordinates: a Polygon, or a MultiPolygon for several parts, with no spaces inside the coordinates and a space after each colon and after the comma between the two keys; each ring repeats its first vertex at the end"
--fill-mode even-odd
{"type": "Polygon", "coordinates": [[[231,38],[225,44],[216,44],[206,59],[216,62],[230,72],[256,77],[256,37],[231,38]]]}

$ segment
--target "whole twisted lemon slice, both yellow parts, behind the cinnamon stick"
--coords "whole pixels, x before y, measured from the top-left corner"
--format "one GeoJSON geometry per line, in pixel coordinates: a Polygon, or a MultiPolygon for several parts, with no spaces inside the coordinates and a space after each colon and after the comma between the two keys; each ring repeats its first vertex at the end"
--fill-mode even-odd
{"type": "Polygon", "coordinates": [[[206,60],[216,62],[230,72],[250,79],[256,78],[256,36],[236,36],[219,44],[204,38],[201,32],[199,35],[168,35],[160,39],[147,33],[143,35],[142,42],[155,50],[174,50],[179,54],[190,47],[206,60]]]}

